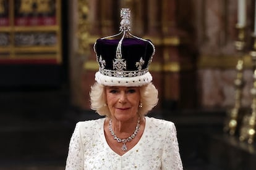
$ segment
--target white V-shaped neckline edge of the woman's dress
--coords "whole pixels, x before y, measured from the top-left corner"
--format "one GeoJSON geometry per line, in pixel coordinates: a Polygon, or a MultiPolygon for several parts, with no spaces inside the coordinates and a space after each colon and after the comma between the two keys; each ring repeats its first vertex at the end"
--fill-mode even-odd
{"type": "Polygon", "coordinates": [[[114,150],[108,145],[108,142],[106,140],[106,136],[105,136],[105,132],[104,132],[104,124],[105,124],[105,121],[106,121],[106,118],[103,120],[103,124],[101,124],[101,139],[103,139],[103,144],[106,145],[106,148],[108,148],[108,150],[111,150],[111,152],[113,152],[115,155],[119,156],[119,157],[122,157],[124,155],[127,155],[129,152],[132,152],[132,150],[135,150],[135,148],[137,148],[141,141],[144,140],[145,138],[145,133],[147,131],[147,126],[148,126],[148,123],[147,123],[147,116],[144,117],[145,118],[145,127],[144,127],[144,130],[143,130],[143,133],[142,133],[142,136],[140,137],[140,140],[137,142],[137,144],[134,145],[134,147],[130,148],[130,150],[128,150],[126,153],[124,153],[123,155],[119,155],[118,153],[114,152],[114,150]]]}

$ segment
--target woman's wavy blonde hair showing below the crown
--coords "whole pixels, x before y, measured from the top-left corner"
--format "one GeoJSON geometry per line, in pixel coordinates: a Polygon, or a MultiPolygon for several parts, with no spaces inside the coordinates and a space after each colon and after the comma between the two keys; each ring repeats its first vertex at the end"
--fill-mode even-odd
{"type": "MultiPolygon", "coordinates": [[[[92,110],[96,110],[99,115],[107,117],[111,115],[106,106],[104,85],[97,82],[93,84],[90,92],[90,102],[92,110]]],[[[157,105],[158,90],[152,83],[140,86],[140,102],[142,103],[142,107],[138,109],[140,117],[147,115],[148,111],[157,105]]]]}

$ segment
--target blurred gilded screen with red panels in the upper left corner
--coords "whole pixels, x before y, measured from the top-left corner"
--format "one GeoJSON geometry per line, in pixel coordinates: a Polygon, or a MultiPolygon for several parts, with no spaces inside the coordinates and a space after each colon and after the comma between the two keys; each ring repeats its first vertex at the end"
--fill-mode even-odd
{"type": "Polygon", "coordinates": [[[60,64],[61,0],[0,0],[0,64],[60,64]]]}

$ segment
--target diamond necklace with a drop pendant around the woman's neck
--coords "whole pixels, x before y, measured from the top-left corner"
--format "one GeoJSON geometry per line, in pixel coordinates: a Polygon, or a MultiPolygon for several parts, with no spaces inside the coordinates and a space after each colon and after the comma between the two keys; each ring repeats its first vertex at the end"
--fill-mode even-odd
{"type": "Polygon", "coordinates": [[[127,151],[127,146],[126,146],[126,142],[130,142],[132,139],[134,139],[135,136],[137,136],[139,130],[140,130],[140,118],[138,119],[138,122],[137,122],[137,126],[135,127],[135,131],[134,133],[127,137],[126,139],[120,139],[119,137],[116,136],[116,134],[114,134],[114,131],[113,131],[113,128],[112,128],[112,119],[109,120],[109,132],[111,133],[111,135],[114,137],[114,140],[116,140],[117,142],[122,142],[122,147],[121,149],[123,151],[127,151]]]}

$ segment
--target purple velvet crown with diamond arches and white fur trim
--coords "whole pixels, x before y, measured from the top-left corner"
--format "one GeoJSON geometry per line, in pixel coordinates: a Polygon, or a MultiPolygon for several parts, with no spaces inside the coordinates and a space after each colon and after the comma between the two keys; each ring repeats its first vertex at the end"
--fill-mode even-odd
{"type": "Polygon", "coordinates": [[[130,33],[130,9],[121,9],[121,18],[120,33],[97,39],[94,44],[99,65],[95,80],[106,86],[143,86],[152,81],[148,67],[155,46],[130,33]],[[113,39],[120,34],[121,39],[113,39]]]}

